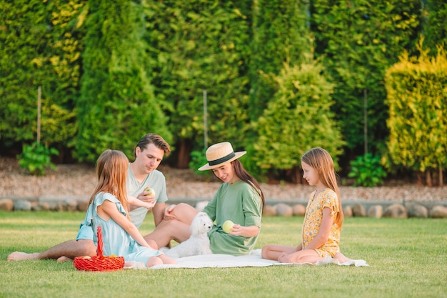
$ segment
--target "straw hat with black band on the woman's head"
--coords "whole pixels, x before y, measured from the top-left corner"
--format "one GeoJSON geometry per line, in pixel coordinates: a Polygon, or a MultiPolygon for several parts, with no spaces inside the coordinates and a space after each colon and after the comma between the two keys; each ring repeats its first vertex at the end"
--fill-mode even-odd
{"type": "Polygon", "coordinates": [[[228,141],[214,144],[206,149],[205,155],[206,160],[208,160],[208,164],[204,164],[202,167],[200,167],[199,171],[214,169],[226,162],[233,162],[234,159],[238,159],[246,153],[246,151],[234,152],[233,147],[230,143],[228,143],[228,141]]]}

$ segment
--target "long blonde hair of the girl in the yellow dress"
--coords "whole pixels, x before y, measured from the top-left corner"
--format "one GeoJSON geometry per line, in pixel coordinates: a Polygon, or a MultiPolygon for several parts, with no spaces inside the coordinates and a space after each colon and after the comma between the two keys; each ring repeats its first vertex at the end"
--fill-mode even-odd
{"type": "Polygon", "coordinates": [[[313,169],[315,169],[318,179],[329,189],[337,194],[338,209],[334,219],[338,227],[343,223],[343,209],[341,207],[340,193],[338,192],[336,172],[333,168],[333,160],[328,152],[320,147],[312,148],[301,157],[301,162],[305,162],[313,169]]]}

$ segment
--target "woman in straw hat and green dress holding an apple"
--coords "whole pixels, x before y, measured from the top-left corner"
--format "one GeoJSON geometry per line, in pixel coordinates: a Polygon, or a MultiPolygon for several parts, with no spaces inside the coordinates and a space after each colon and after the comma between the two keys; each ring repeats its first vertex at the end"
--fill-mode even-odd
{"type": "MultiPolygon", "coordinates": [[[[214,254],[249,254],[258,239],[264,197],[255,178],[248,174],[229,142],[218,143],[206,150],[208,163],[200,171],[211,170],[224,182],[203,212],[215,222],[208,233],[214,254]],[[224,222],[233,222],[231,232],[222,228],[224,222]]],[[[184,242],[191,235],[190,225],[198,212],[189,204],[171,205],[164,219],[145,239],[153,239],[159,247],[168,246],[172,239],[184,242]]]]}

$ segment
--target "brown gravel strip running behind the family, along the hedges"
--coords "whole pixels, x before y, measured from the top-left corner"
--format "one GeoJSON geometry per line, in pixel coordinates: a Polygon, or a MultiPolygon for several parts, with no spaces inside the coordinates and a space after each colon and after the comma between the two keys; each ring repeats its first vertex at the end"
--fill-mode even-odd
{"type": "MultiPolygon", "coordinates": [[[[191,170],[159,167],[166,176],[170,199],[211,199],[220,183],[206,182],[191,170]]],[[[0,157],[0,198],[89,197],[96,186],[93,166],[60,164],[44,177],[24,174],[16,159],[0,157]]],[[[261,184],[266,199],[307,200],[312,187],[302,184],[261,184]]],[[[391,187],[340,187],[342,200],[349,201],[447,201],[447,187],[404,184],[391,187]]]]}

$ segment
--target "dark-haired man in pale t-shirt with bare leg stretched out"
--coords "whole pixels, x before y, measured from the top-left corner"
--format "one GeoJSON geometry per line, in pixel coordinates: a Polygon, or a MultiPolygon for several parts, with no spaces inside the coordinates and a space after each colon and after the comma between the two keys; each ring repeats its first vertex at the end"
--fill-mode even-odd
{"type": "MultiPolygon", "coordinates": [[[[166,207],[166,181],[157,167],[164,156],[171,152],[169,144],[158,134],[146,134],[134,150],[135,160],[129,163],[129,172],[126,180],[126,187],[129,196],[136,197],[153,204],[152,212],[154,214],[155,226],[161,222],[164,217],[166,207]],[[146,189],[154,189],[154,195],[148,195],[146,189]]],[[[130,207],[131,221],[136,227],[140,227],[144,222],[149,209],[144,207],[130,207]]],[[[22,259],[57,259],[66,261],[79,256],[91,256],[96,254],[96,246],[93,242],[93,229],[89,223],[81,223],[76,240],[69,240],[47,249],[45,252],[25,253],[13,252],[9,254],[9,261],[19,261],[22,259]]]]}

